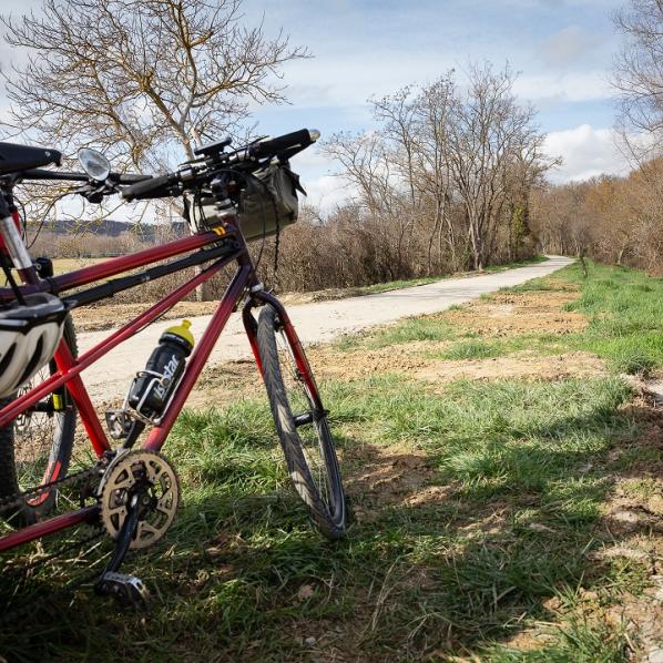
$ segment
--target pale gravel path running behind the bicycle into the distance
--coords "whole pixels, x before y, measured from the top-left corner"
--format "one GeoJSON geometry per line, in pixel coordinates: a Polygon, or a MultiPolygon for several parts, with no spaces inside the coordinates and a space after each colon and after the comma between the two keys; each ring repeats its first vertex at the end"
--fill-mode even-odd
{"type": "MultiPolygon", "coordinates": [[[[377,295],[290,306],[288,312],[304,344],[329,341],[343,334],[358,332],[371,325],[384,325],[406,316],[445,310],[453,304],[477,299],[484,293],[547,276],[571,262],[569,258],[551,256],[545,263],[508,272],[469,278],[448,278],[377,295]]],[[[211,316],[201,316],[192,320],[192,332],[196,338],[202,336],[210,319],[211,316]]],[[[92,398],[110,400],[124,394],[132,377],[144,366],[163,329],[172,324],[171,320],[152,325],[90,367],[83,377],[92,398]]],[[[80,350],[85,351],[109,334],[108,330],[81,334],[80,350]]],[[[210,364],[238,359],[249,354],[251,348],[243,332],[242,320],[234,314],[212,351],[210,364]]]]}

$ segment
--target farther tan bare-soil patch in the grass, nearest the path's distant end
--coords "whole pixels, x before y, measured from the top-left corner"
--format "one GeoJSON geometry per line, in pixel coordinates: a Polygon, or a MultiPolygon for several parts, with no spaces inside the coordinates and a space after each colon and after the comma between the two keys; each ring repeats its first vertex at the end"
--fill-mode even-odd
{"type": "Polygon", "coordinates": [[[489,300],[480,299],[449,310],[445,319],[481,336],[503,337],[517,334],[570,334],[588,325],[585,317],[562,306],[578,298],[578,292],[534,290],[496,293],[489,300]]]}

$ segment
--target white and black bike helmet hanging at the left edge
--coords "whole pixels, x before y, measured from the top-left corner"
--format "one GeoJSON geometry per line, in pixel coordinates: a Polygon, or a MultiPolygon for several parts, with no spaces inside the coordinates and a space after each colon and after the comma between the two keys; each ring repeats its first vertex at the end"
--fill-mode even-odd
{"type": "Polygon", "coordinates": [[[27,295],[0,309],[0,398],[14,394],[58,349],[67,306],[53,295],[27,295]]]}

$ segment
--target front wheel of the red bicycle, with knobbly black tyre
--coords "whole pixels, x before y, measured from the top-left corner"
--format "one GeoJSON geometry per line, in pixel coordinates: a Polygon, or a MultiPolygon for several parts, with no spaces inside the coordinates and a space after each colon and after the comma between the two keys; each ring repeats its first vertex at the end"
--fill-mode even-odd
{"type": "MultiPolygon", "coordinates": [[[[347,527],[346,503],[327,414],[315,411],[315,397],[303,380],[278,313],[271,305],[265,305],[258,316],[257,344],[272,416],[295,490],[318,531],[328,539],[339,539],[347,527]],[[314,439],[315,445],[307,443],[314,439]]],[[[300,353],[305,357],[303,349],[300,353]]],[[[308,371],[317,396],[310,368],[308,371]]],[[[319,396],[317,399],[319,402],[319,396]]]]}

